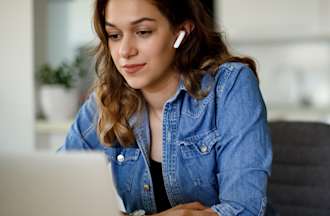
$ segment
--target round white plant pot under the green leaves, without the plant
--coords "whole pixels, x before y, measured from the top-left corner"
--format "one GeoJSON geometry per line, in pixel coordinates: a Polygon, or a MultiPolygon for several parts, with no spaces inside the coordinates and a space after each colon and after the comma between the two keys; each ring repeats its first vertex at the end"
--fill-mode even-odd
{"type": "Polygon", "coordinates": [[[65,121],[72,119],[77,110],[79,93],[75,88],[66,89],[59,85],[44,85],[40,89],[40,103],[47,120],[65,121]]]}

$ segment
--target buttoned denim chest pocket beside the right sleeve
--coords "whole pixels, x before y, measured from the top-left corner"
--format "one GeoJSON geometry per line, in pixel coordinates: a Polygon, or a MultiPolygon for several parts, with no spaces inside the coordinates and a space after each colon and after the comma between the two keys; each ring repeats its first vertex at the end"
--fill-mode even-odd
{"type": "Polygon", "coordinates": [[[215,170],[215,147],[218,141],[218,132],[210,130],[179,143],[182,160],[179,172],[184,173],[182,190],[190,194],[191,200],[201,201],[210,206],[218,199],[219,186],[215,170]]]}

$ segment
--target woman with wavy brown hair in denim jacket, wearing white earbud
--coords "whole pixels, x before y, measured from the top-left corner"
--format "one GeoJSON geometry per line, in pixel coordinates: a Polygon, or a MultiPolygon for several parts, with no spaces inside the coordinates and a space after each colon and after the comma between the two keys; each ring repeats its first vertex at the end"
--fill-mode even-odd
{"type": "Polygon", "coordinates": [[[104,151],[131,215],[263,215],[255,64],[228,52],[199,0],[97,0],[94,27],[95,93],[61,150],[104,151]]]}

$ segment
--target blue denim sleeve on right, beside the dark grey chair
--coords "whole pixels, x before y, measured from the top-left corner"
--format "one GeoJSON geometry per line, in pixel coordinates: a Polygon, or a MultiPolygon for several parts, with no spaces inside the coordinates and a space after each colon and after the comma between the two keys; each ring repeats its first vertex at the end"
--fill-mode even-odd
{"type": "Polygon", "coordinates": [[[217,179],[221,216],[264,215],[272,146],[258,80],[245,65],[229,65],[217,84],[217,179]]]}

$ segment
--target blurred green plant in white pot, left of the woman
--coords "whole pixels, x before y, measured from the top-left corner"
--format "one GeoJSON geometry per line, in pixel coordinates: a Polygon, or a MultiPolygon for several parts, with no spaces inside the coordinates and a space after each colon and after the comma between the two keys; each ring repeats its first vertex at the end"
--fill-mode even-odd
{"type": "Polygon", "coordinates": [[[78,109],[77,84],[85,77],[85,59],[79,55],[71,63],[63,62],[57,67],[41,65],[36,80],[41,85],[40,105],[47,120],[67,120],[78,109]]]}

